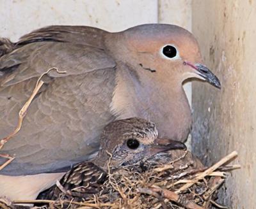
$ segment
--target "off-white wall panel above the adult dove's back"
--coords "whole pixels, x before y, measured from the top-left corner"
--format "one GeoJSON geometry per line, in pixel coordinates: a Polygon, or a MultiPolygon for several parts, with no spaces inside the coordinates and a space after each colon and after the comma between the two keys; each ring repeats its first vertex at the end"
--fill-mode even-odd
{"type": "Polygon", "coordinates": [[[0,0],[0,36],[12,40],[45,25],[120,31],[157,18],[157,0],[0,0]]]}

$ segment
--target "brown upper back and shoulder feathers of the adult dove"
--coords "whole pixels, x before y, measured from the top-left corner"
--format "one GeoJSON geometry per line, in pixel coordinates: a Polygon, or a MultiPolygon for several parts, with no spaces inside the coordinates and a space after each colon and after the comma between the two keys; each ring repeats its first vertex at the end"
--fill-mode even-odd
{"type": "Polygon", "coordinates": [[[0,85],[15,85],[52,67],[67,71],[67,74],[51,71],[52,77],[115,68],[115,61],[104,51],[105,33],[92,27],[51,26],[23,36],[16,44],[2,39],[0,85]]]}

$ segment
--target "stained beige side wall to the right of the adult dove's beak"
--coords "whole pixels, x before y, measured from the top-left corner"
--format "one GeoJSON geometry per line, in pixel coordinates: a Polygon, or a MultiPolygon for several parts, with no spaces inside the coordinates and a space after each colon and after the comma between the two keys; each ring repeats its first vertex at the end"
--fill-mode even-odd
{"type": "Polygon", "coordinates": [[[193,83],[194,152],[207,164],[233,150],[242,168],[227,179],[223,202],[255,208],[256,1],[194,0],[192,31],[222,89],[193,83]]]}

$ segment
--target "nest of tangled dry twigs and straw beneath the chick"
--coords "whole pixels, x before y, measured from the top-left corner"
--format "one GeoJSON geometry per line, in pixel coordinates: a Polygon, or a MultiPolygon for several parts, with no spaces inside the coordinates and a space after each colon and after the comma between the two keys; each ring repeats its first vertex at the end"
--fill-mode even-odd
{"type": "MultiPolygon", "coordinates": [[[[34,203],[39,208],[189,208],[208,209],[218,205],[216,199],[227,171],[239,168],[238,165],[223,166],[234,159],[232,152],[209,168],[188,151],[175,151],[172,161],[163,164],[143,164],[109,169],[108,178],[97,194],[72,196],[76,189],[65,191],[61,185],[60,198],[52,200],[13,201],[1,203],[6,208],[17,208],[17,203],[34,203]]],[[[111,158],[109,159],[111,161],[111,158]]],[[[156,162],[156,159],[154,159],[156,162]]],[[[76,192],[77,193],[77,192],[76,192]]],[[[4,208],[4,209],[6,209],[4,208]]],[[[21,208],[20,206],[18,208],[21,208]]],[[[22,208],[31,208],[29,206],[22,208]]],[[[36,207],[38,208],[38,207],[36,207]]]]}

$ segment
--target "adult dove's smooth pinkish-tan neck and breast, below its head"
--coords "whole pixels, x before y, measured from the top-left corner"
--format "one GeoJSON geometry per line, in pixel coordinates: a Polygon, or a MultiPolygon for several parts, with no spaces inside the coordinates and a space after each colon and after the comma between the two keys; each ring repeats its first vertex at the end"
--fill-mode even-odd
{"type": "Polygon", "coordinates": [[[154,79],[157,74],[146,71],[143,73],[150,76],[143,76],[124,64],[118,66],[116,73],[111,110],[117,119],[148,119],[157,125],[160,136],[186,140],[191,128],[191,110],[182,82],[177,79],[159,82],[154,79]]]}

